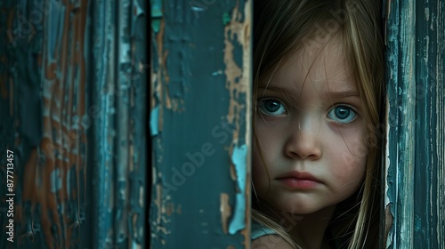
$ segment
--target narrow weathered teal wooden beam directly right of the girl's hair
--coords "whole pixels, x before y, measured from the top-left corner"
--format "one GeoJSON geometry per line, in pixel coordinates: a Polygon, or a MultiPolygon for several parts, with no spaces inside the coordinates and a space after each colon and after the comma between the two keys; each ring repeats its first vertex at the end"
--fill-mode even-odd
{"type": "Polygon", "coordinates": [[[413,2],[392,1],[387,23],[387,76],[388,147],[386,173],[388,199],[385,205],[391,208],[393,229],[398,236],[390,237],[396,248],[412,248],[414,209],[414,158],[415,158],[415,23],[413,2]],[[403,89],[403,91],[401,91],[403,89]],[[402,107],[402,108],[399,108],[402,107]],[[391,202],[391,203],[389,203],[391,202]],[[403,239],[402,239],[403,238],[403,239]]]}

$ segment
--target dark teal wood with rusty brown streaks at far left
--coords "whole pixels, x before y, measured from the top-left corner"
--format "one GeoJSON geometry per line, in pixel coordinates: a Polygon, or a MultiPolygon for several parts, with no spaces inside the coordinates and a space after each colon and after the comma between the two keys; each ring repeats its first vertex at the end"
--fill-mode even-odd
{"type": "Polygon", "coordinates": [[[87,2],[1,4],[10,7],[4,26],[9,67],[2,84],[7,84],[12,100],[13,140],[5,144],[17,156],[17,244],[12,247],[82,246],[90,145],[86,131],[91,125],[84,40],[87,2]]]}

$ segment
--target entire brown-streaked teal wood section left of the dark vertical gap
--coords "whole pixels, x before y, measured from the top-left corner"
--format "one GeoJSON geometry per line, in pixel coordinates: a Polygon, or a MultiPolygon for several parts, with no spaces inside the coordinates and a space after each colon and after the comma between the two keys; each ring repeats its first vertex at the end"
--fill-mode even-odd
{"type": "Polygon", "coordinates": [[[148,247],[148,7],[0,1],[0,248],[148,247]]]}

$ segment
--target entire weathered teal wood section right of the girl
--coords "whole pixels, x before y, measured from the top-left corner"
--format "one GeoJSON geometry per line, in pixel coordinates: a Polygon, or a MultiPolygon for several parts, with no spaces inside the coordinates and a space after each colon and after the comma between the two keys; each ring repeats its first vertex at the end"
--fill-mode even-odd
{"type": "Polygon", "coordinates": [[[386,248],[445,247],[445,5],[387,4],[386,248]]]}

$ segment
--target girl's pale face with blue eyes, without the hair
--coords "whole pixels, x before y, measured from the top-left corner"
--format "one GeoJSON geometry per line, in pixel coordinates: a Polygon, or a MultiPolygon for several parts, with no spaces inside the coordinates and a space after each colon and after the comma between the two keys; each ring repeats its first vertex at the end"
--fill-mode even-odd
{"type": "Polygon", "coordinates": [[[259,85],[256,98],[259,197],[278,212],[308,214],[334,208],[360,188],[365,106],[339,39],[306,44],[259,85]]]}

